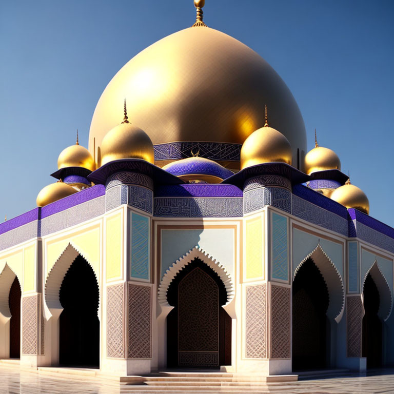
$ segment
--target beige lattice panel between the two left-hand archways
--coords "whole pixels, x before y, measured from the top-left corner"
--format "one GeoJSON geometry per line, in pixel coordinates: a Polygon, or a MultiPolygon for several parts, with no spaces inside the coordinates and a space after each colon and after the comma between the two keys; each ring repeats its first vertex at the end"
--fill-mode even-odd
{"type": "Polygon", "coordinates": [[[38,297],[35,294],[22,299],[22,353],[38,353],[38,297]]]}

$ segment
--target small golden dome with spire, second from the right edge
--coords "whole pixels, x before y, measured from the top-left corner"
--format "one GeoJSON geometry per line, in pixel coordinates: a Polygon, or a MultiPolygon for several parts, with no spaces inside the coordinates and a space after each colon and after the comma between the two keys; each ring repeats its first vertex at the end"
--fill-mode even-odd
{"type": "Polygon", "coordinates": [[[341,161],[333,150],[318,145],[314,130],[314,148],[305,155],[305,172],[310,175],[324,170],[341,170],[341,161]]]}

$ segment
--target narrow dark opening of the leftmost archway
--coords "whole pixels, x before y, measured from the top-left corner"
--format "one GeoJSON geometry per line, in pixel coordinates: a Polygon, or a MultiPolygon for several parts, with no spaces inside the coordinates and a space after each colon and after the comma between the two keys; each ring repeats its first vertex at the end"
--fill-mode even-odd
{"type": "Polygon", "coordinates": [[[21,357],[21,285],[15,277],[8,297],[10,307],[10,359],[21,357]]]}

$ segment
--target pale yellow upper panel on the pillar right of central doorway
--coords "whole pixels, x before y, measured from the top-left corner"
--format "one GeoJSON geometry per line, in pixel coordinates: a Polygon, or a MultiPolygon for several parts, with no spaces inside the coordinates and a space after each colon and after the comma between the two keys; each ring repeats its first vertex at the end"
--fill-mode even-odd
{"type": "Polygon", "coordinates": [[[263,277],[263,221],[246,221],[246,279],[263,277]]]}

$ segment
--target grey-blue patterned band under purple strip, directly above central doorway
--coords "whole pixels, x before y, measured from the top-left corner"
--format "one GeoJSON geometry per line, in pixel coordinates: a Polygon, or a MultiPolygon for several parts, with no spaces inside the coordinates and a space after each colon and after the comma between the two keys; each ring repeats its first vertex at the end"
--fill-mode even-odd
{"type": "Polygon", "coordinates": [[[242,198],[154,198],[154,216],[164,218],[236,218],[242,198]]]}

